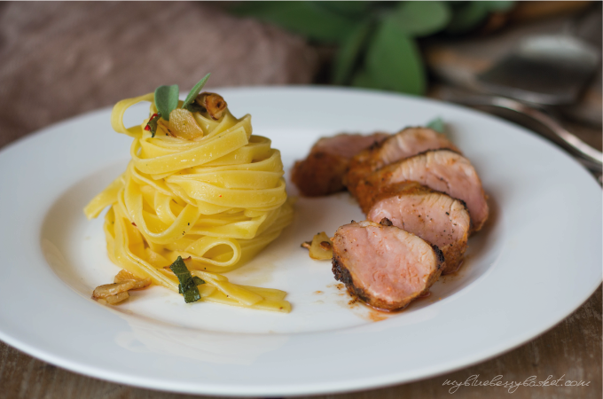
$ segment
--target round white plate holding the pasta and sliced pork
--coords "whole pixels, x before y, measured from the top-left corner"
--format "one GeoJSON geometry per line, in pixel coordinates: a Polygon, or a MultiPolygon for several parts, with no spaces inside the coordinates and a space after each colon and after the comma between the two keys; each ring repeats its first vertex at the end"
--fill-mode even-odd
{"type": "MultiPolygon", "coordinates": [[[[107,308],[90,300],[117,269],[102,218],[82,207],[129,160],[110,110],[43,129],[0,153],[0,339],[74,372],[207,395],[305,395],[448,372],[516,347],[583,303],[603,279],[603,192],[553,145],[504,121],[419,98],[360,90],[220,90],[251,113],[286,168],[317,137],[395,131],[441,116],[493,210],[456,277],[389,317],[349,305],[329,262],[300,248],[362,214],[348,194],[297,203],[294,224],[234,282],[289,292],[288,315],[184,304],[161,287],[107,308]],[[385,318],[378,323],[375,320],[385,318]]],[[[129,124],[145,106],[127,113],[129,124]]],[[[287,174],[288,175],[288,174],[287,174]]],[[[289,186],[294,193],[294,187],[289,186]]]]}

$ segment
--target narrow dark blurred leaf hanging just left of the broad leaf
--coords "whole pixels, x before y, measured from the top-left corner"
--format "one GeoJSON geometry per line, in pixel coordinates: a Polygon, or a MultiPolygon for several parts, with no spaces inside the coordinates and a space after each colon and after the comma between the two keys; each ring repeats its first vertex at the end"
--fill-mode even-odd
{"type": "Polygon", "coordinates": [[[358,25],[348,38],[341,44],[333,62],[333,83],[345,84],[354,72],[361,53],[366,47],[372,32],[372,21],[358,25]]]}

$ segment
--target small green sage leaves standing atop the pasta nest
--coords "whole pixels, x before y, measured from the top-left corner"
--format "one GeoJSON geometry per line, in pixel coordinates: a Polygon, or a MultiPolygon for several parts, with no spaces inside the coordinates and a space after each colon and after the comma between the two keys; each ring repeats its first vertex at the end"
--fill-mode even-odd
{"type": "MultiPolygon", "coordinates": [[[[206,74],[203,76],[203,78],[192,87],[192,90],[189,91],[189,94],[186,96],[182,105],[184,109],[190,112],[199,112],[201,110],[200,106],[194,101],[203,89],[203,86],[205,86],[205,83],[208,82],[209,75],[210,74],[206,74]]],[[[165,121],[169,121],[169,113],[178,107],[179,92],[180,90],[178,89],[177,84],[172,84],[171,86],[164,85],[155,89],[155,107],[158,112],[153,114],[151,120],[149,120],[145,126],[145,130],[151,130],[151,137],[155,137],[159,119],[162,118],[165,121]]]]}

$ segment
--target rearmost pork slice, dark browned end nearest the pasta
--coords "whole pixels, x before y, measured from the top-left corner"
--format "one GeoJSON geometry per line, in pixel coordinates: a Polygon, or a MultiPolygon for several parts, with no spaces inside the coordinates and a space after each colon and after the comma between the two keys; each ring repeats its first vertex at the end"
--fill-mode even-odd
{"type": "Polygon", "coordinates": [[[387,133],[364,136],[342,133],[322,137],[312,146],[305,160],[295,162],[291,180],[306,197],[319,197],[345,190],[343,176],[348,171],[349,160],[364,148],[373,145],[387,133]]]}

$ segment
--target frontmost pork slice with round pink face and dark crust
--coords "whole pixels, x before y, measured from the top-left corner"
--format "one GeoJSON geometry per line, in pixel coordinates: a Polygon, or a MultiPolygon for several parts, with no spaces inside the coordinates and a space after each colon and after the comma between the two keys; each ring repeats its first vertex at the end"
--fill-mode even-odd
{"type": "Polygon", "coordinates": [[[367,304],[403,309],[440,277],[443,256],[437,246],[387,224],[341,226],[333,238],[333,274],[367,304]]]}

